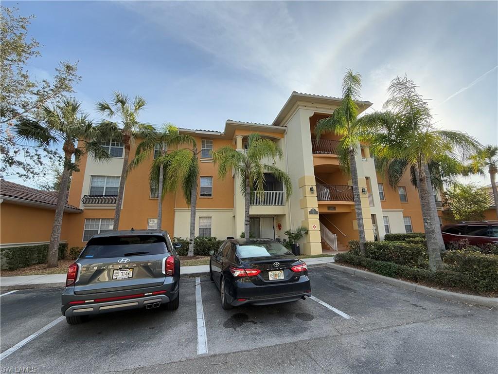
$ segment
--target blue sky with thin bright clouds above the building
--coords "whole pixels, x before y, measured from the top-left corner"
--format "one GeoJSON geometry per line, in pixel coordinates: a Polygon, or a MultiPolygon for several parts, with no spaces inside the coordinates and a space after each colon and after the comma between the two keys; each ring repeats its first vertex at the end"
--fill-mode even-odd
{"type": "Polygon", "coordinates": [[[362,74],[372,110],[382,109],[389,82],[407,74],[437,126],[498,144],[496,1],[17,6],[36,15],[29,30],[43,44],[31,72],[50,78],[59,61],[79,61],[75,96],[96,119],[95,102],[118,90],[146,99],[143,122],[218,131],[227,119],[270,124],[292,91],[340,96],[350,68],[362,74]]]}

